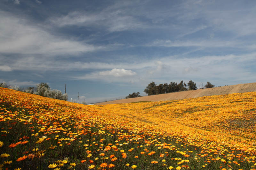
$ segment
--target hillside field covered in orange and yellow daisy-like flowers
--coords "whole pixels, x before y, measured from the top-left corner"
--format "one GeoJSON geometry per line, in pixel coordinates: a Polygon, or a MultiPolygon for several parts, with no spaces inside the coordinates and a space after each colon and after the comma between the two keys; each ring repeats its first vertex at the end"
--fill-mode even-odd
{"type": "Polygon", "coordinates": [[[0,88],[0,169],[256,168],[256,92],[82,105],[0,88]]]}

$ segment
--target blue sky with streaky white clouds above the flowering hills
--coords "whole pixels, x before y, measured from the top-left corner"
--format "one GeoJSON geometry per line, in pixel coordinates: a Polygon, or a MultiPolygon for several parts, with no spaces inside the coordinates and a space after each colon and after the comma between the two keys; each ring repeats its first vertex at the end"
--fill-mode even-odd
{"type": "Polygon", "coordinates": [[[256,82],[256,1],[0,0],[0,82],[69,101],[256,82]]]}

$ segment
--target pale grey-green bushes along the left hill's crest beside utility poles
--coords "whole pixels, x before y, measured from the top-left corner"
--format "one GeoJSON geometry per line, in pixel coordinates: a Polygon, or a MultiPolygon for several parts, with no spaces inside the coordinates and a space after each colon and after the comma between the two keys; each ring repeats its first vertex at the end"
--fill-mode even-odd
{"type": "Polygon", "coordinates": [[[6,82],[4,81],[3,83],[0,83],[0,87],[9,88],[9,89],[13,89],[21,92],[27,92],[31,94],[37,94],[37,95],[49,97],[52,99],[59,99],[59,100],[66,100],[66,101],[68,100],[67,93],[62,94],[60,90],[53,90],[50,88],[50,86],[47,83],[43,83],[43,82],[40,84],[37,84],[36,87],[20,88],[19,86],[16,86],[16,85],[14,86],[7,85],[6,82]]]}

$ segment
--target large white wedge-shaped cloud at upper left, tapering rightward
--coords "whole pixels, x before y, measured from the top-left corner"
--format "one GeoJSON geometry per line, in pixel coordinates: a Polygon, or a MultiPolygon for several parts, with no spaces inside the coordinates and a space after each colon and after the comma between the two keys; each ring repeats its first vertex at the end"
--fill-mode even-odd
{"type": "Polygon", "coordinates": [[[61,55],[102,50],[82,41],[54,36],[24,18],[0,11],[0,52],[19,54],[61,55]]]}

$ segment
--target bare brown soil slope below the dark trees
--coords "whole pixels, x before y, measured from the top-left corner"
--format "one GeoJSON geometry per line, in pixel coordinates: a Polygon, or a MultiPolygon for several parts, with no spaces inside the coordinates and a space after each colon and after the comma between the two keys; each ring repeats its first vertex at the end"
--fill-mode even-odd
{"type": "Polygon", "coordinates": [[[139,102],[139,101],[179,100],[179,99],[188,99],[188,98],[231,94],[231,93],[243,93],[243,92],[256,92],[256,83],[229,85],[229,86],[214,87],[209,89],[199,89],[199,90],[191,90],[191,91],[184,91],[184,92],[158,94],[154,96],[143,96],[143,97],[130,98],[130,99],[113,100],[113,101],[97,103],[97,105],[131,103],[131,102],[139,102]]]}

